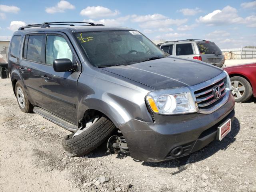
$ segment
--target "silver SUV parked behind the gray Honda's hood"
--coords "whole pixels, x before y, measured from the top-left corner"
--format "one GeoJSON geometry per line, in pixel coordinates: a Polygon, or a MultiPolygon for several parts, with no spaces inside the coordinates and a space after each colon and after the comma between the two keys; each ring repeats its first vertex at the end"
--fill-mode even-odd
{"type": "Polygon", "coordinates": [[[218,67],[222,67],[225,62],[220,48],[214,42],[206,40],[187,39],[168,41],[157,46],[170,55],[198,59],[218,67]]]}

